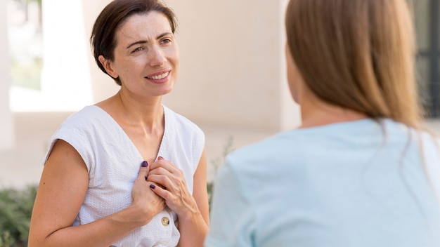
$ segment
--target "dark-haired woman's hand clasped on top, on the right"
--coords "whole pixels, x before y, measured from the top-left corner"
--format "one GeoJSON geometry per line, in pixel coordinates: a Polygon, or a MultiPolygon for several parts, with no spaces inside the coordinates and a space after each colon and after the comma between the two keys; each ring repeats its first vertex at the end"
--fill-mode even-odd
{"type": "Polygon", "coordinates": [[[147,180],[160,185],[150,188],[162,197],[177,215],[198,212],[197,203],[188,191],[183,172],[170,161],[159,157],[157,161],[150,163],[147,180]]]}

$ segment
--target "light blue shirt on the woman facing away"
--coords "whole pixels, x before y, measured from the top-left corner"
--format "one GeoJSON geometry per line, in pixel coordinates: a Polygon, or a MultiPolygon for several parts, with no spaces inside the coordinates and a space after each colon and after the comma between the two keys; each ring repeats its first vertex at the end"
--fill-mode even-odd
{"type": "Polygon", "coordinates": [[[427,133],[389,119],[244,147],[217,174],[205,246],[440,246],[440,203],[425,175],[440,166],[437,150],[427,133]]]}

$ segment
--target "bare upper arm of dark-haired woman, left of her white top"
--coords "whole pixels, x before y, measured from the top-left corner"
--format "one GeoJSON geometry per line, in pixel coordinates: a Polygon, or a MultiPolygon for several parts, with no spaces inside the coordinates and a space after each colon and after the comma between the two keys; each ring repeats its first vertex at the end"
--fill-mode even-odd
{"type": "Polygon", "coordinates": [[[77,150],[57,140],[44,165],[30,225],[30,242],[41,241],[75,222],[89,187],[89,173],[77,150]]]}

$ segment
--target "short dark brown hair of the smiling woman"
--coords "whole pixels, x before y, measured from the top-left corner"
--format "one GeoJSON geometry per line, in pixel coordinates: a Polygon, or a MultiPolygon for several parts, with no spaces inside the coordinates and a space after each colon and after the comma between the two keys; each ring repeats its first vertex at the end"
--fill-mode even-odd
{"type": "MultiPolygon", "coordinates": [[[[176,30],[176,15],[171,8],[168,8],[158,0],[115,0],[110,2],[96,18],[90,36],[90,44],[95,57],[96,64],[105,73],[105,68],[99,62],[99,56],[112,61],[115,58],[116,32],[117,29],[131,15],[157,11],[164,14],[169,20],[172,32],[176,30]]],[[[109,74],[110,76],[110,74],[109,74]]],[[[110,76],[111,77],[111,76],[110,76]]],[[[119,78],[116,83],[121,86],[119,78]]]]}

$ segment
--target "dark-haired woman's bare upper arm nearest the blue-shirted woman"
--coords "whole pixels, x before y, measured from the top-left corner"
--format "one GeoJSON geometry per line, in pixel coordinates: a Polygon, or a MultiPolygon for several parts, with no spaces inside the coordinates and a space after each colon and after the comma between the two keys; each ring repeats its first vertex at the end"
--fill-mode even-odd
{"type": "Polygon", "coordinates": [[[207,159],[205,149],[202,152],[197,169],[194,173],[193,197],[203,219],[209,225],[209,206],[207,193],[207,159]]]}

